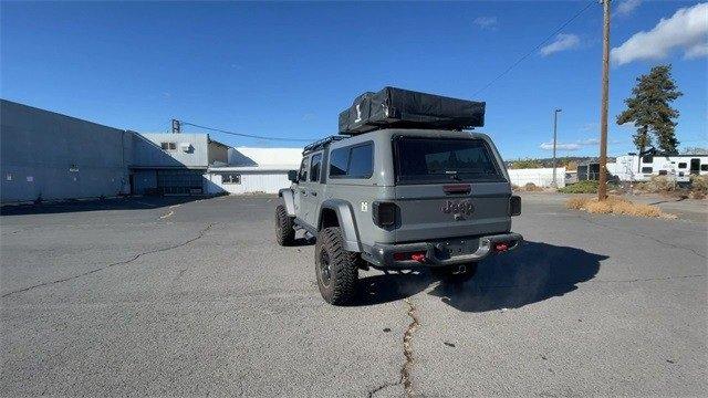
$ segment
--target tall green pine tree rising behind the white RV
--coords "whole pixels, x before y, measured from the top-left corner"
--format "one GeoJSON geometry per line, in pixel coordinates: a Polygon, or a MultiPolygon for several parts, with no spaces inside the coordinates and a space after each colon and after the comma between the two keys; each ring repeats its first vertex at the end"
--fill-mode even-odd
{"type": "Polygon", "coordinates": [[[671,108],[670,102],[684,94],[671,78],[671,65],[654,66],[649,74],[637,77],[632,94],[624,101],[627,108],[617,116],[617,124],[634,122],[637,132],[632,138],[639,153],[652,145],[652,133],[662,151],[677,154],[674,119],[678,111],[671,108]]]}

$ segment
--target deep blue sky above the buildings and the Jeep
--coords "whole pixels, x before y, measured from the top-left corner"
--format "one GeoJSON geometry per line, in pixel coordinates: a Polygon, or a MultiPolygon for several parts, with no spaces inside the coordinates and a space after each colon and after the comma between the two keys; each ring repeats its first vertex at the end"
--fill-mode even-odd
{"type": "MultiPolygon", "coordinates": [[[[395,85],[486,101],[481,130],[506,158],[550,156],[542,144],[561,107],[560,154],[595,155],[602,7],[592,2],[550,46],[477,95],[587,2],[2,2],[0,94],[138,132],[165,132],[176,117],[317,138],[336,132],[339,112],[356,95],[395,85]]],[[[694,12],[693,30],[678,33],[690,38],[665,39],[686,27],[684,14],[669,20],[674,28],[657,27],[681,8],[702,6],[613,7],[612,46],[632,42],[613,53],[611,155],[633,149],[632,129],[613,121],[635,77],[664,62],[685,94],[675,103],[681,146],[708,146],[708,15],[700,10],[696,21],[694,12]]],[[[211,136],[233,146],[298,146],[211,136]]]]}

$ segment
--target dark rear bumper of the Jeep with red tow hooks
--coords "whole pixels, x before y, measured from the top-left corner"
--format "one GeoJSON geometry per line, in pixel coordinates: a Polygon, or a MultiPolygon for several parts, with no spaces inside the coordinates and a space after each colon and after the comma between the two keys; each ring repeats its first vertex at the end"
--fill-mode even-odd
{"type": "Polygon", "coordinates": [[[415,242],[403,244],[376,243],[367,251],[365,259],[375,266],[393,269],[410,269],[418,266],[448,266],[466,264],[485,259],[497,252],[497,244],[506,243],[503,251],[513,250],[521,244],[523,237],[519,233],[502,233],[485,237],[468,237],[434,242],[415,242]],[[455,249],[450,249],[455,248],[455,249]],[[420,260],[396,260],[396,253],[425,253],[420,260]]]}

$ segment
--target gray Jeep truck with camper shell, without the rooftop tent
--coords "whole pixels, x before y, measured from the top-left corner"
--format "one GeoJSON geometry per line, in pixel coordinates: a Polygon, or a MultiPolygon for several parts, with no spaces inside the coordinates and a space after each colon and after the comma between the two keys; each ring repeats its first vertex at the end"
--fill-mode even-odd
{"type": "Polygon", "coordinates": [[[356,298],[360,269],[428,268],[467,280],[486,256],[517,248],[504,164],[489,136],[431,128],[379,128],[305,147],[300,170],[281,189],[275,235],[316,240],[322,297],[356,298]]]}

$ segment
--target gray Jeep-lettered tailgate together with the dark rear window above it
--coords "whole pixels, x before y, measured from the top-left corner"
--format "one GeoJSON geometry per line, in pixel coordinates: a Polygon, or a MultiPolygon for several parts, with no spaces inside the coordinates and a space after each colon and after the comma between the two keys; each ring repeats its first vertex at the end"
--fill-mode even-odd
{"type": "Polygon", "coordinates": [[[394,138],[396,241],[508,232],[510,185],[481,138],[394,138]]]}

